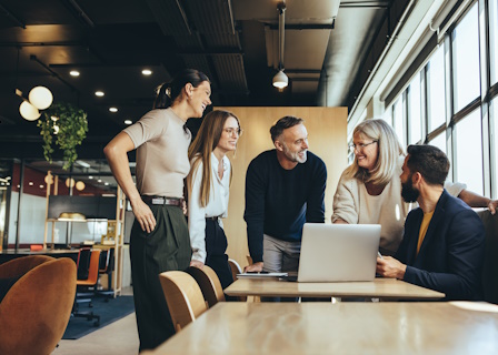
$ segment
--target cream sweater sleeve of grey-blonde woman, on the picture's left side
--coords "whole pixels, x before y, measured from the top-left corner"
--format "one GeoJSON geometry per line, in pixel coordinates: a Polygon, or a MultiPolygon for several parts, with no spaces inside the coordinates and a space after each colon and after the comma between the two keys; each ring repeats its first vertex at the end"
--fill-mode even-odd
{"type": "Polygon", "coordinates": [[[348,179],[345,172],[337,184],[333,195],[332,223],[342,220],[349,224],[358,223],[358,182],[356,179],[348,179]]]}

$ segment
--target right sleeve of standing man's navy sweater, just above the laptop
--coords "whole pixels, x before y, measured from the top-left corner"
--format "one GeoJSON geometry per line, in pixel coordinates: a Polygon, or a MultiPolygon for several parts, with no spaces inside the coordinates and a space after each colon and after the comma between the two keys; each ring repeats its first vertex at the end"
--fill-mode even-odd
{"type": "Polygon", "coordinates": [[[319,160],[311,178],[311,186],[306,206],[306,221],[325,223],[325,190],[327,186],[327,168],[319,160]]]}

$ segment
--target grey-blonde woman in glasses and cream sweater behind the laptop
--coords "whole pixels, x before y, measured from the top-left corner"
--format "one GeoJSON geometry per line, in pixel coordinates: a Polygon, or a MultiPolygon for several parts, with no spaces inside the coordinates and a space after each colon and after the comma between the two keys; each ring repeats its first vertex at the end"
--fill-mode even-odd
{"type": "MultiPolygon", "coordinates": [[[[355,128],[351,150],[355,161],[342,173],[333,196],[332,223],[380,224],[380,252],[394,255],[402,239],[411,204],[401,197],[405,150],[384,120],[366,120],[355,128]]],[[[470,206],[487,206],[495,213],[497,201],[465,190],[461,183],[445,184],[454,196],[470,206]]]]}

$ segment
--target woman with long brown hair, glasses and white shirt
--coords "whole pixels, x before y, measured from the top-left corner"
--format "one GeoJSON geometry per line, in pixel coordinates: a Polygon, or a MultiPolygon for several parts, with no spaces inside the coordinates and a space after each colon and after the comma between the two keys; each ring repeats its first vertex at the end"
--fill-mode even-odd
{"type": "Polygon", "coordinates": [[[203,119],[189,149],[191,170],[187,186],[192,246],[190,266],[210,266],[223,288],[233,282],[226,254],[227,236],[221,222],[227,216],[231,181],[227,153],[236,150],[241,133],[239,119],[233,113],[212,111],[203,119]]]}

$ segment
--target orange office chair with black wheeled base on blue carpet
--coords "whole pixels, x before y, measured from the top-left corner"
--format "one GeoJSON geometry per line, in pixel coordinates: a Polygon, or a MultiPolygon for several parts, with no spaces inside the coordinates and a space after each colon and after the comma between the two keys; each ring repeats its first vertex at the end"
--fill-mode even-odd
{"type": "MultiPolygon", "coordinates": [[[[83,250],[82,250],[83,251],[83,250]]],[[[80,254],[81,252],[80,251],[80,254]]],[[[81,271],[80,263],[82,262],[82,258],[78,258],[79,264],[78,268],[81,271]]],[[[77,280],[77,295],[74,298],[74,306],[72,316],[74,317],[86,317],[88,321],[97,320],[93,325],[99,326],[100,325],[100,316],[97,314],[93,314],[93,312],[78,312],[78,303],[81,302],[90,302],[91,307],[91,296],[94,294],[94,291],[97,288],[97,282],[99,280],[99,263],[100,263],[100,250],[92,250],[90,254],[90,263],[88,266],[88,277],[86,280],[77,280]],[[88,294],[78,294],[78,290],[89,290],[90,287],[93,287],[92,294],[90,295],[90,298],[88,298],[88,294]],[[87,298],[81,298],[81,296],[86,296],[87,298]]],[[[79,272],[81,274],[81,272],[79,272]]]]}

